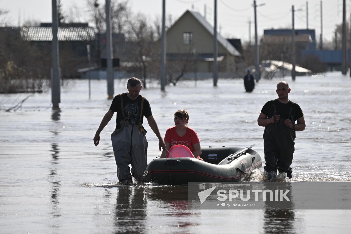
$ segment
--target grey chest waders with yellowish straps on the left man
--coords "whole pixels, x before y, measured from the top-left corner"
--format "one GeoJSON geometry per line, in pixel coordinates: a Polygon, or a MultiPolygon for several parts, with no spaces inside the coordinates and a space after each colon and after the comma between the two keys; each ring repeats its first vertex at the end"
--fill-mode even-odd
{"type": "Polygon", "coordinates": [[[113,154],[117,165],[118,180],[135,177],[141,181],[147,166],[147,141],[146,130],[141,124],[143,118],[144,97],[141,99],[141,110],[138,125],[129,124],[124,117],[123,100],[121,97],[121,111],[124,123],[120,129],[115,129],[111,134],[113,154]],[[132,164],[130,173],[129,164],[132,164]]]}

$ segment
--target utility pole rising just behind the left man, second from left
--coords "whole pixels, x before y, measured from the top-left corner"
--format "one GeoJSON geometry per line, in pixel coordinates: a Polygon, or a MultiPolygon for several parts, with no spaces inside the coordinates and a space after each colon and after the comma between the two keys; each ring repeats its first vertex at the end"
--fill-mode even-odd
{"type": "Polygon", "coordinates": [[[113,69],[112,69],[112,35],[111,35],[111,5],[110,0],[106,0],[106,62],[107,62],[107,95],[113,98],[113,69]]]}

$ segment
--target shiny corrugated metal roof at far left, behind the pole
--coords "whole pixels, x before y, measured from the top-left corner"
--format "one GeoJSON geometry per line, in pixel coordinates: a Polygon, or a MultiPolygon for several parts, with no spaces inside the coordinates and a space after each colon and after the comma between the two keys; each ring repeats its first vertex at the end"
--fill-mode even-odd
{"type": "MultiPolygon", "coordinates": [[[[20,32],[26,41],[52,41],[51,27],[22,27],[20,32]]],[[[92,41],[95,34],[91,27],[59,27],[57,37],[59,41],[92,41]]]]}

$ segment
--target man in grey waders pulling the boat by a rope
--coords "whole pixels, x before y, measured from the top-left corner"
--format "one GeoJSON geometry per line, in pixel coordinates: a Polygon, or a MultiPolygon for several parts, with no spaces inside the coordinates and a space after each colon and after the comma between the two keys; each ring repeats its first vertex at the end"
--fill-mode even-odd
{"type": "Polygon", "coordinates": [[[113,113],[117,113],[116,129],[111,135],[114,158],[117,164],[117,177],[121,184],[133,183],[132,176],[141,182],[147,166],[146,130],[143,128],[145,116],[147,123],[159,139],[159,150],[166,149],[157,123],[152,116],[150,104],[146,98],[139,95],[141,82],[138,78],[130,78],[127,83],[127,93],[113,98],[110,110],[102,119],[94,137],[94,144],[98,146],[100,132],[111,120],[113,113]],[[129,164],[132,164],[130,173],[129,164]]]}

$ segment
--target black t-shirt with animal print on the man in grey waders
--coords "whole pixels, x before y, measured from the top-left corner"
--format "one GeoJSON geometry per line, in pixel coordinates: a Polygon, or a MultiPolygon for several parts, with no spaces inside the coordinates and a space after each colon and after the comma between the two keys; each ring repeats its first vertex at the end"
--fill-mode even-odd
{"type": "MultiPolygon", "coordinates": [[[[141,99],[142,96],[139,95],[135,100],[128,98],[127,93],[122,93],[123,100],[123,110],[124,117],[126,121],[131,125],[138,125],[140,118],[140,109],[141,109],[141,99]]],[[[113,98],[112,104],[110,106],[110,110],[112,112],[116,112],[116,128],[120,129],[123,124],[123,115],[121,112],[121,95],[117,95],[113,98]]],[[[150,104],[146,98],[144,98],[143,104],[143,116],[148,118],[152,115],[150,104]]],[[[141,123],[143,123],[143,119],[141,118],[141,123]]]]}

